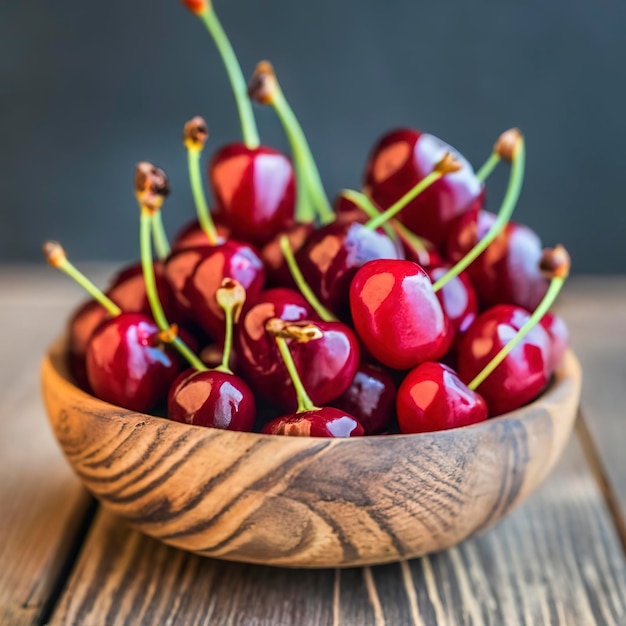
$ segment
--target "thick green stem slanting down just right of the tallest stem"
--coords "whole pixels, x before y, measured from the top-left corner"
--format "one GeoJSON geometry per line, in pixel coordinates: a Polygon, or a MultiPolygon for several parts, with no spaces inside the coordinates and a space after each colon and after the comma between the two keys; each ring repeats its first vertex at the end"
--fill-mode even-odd
{"type": "MultiPolygon", "coordinates": [[[[328,201],[328,196],[324,191],[324,185],[320,177],[319,170],[315,164],[315,159],[311,153],[311,148],[306,140],[306,136],[293,109],[289,106],[282,90],[276,87],[276,93],[272,98],[272,107],[276,111],[278,118],[285,129],[285,134],[289,140],[289,145],[293,152],[296,167],[298,187],[303,193],[307,193],[313,202],[313,206],[322,224],[328,224],[335,219],[335,212],[328,201]]],[[[310,217],[305,215],[305,217],[310,217]]],[[[311,221],[310,219],[308,221],[311,221]]]]}

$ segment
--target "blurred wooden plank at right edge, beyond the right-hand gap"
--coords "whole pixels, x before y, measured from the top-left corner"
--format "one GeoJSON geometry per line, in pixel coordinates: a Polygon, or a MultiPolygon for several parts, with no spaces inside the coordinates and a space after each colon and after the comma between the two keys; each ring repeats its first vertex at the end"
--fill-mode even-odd
{"type": "Polygon", "coordinates": [[[626,278],[574,278],[560,304],[583,367],[585,448],[626,545],[626,278]]]}

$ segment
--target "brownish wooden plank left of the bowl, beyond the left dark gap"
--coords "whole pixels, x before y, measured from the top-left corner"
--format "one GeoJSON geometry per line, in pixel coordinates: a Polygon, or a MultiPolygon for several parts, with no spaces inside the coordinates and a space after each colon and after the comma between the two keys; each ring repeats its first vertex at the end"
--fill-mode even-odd
{"type": "Polygon", "coordinates": [[[0,270],[0,624],[32,624],[90,499],[54,441],[39,361],[80,291],[45,267],[0,270]]]}

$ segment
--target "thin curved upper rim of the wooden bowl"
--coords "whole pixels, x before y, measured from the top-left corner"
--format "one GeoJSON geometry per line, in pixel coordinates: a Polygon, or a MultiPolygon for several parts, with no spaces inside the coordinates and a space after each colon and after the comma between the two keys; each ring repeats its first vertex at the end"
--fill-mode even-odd
{"type": "MultiPolygon", "coordinates": [[[[170,420],[167,417],[161,417],[159,415],[153,415],[151,413],[143,413],[141,411],[133,411],[131,409],[126,409],[124,407],[118,406],[116,404],[111,404],[106,400],[101,400],[100,398],[88,393],[87,391],[78,387],[74,381],[72,380],[71,374],[69,373],[69,369],[67,367],[67,336],[66,334],[62,334],[57,337],[55,341],[53,341],[48,348],[46,349],[45,356],[43,358],[41,369],[42,373],[46,370],[51,371],[57,378],[57,382],[64,386],[69,393],[71,393],[74,397],[78,398],[86,404],[85,408],[95,408],[98,407],[101,413],[101,409],[104,407],[109,410],[115,411],[118,416],[121,415],[134,415],[139,417],[149,418],[150,421],[156,420],[156,424],[176,424],[178,426],[187,426],[193,429],[202,429],[206,430],[208,427],[206,426],[197,426],[194,424],[185,424],[182,422],[175,422],[170,420]]],[[[498,415],[495,417],[489,417],[482,422],[478,422],[476,424],[470,424],[468,426],[459,426],[457,428],[448,428],[444,430],[435,430],[435,431],[427,431],[422,433],[390,433],[388,435],[364,435],[363,437],[337,437],[330,438],[330,441],[333,442],[341,442],[344,445],[350,445],[348,442],[354,442],[356,445],[357,442],[365,439],[367,441],[375,441],[375,440],[387,440],[388,437],[392,439],[397,438],[432,438],[433,436],[449,434],[454,432],[457,435],[462,434],[468,430],[475,430],[480,428],[488,428],[491,424],[495,422],[512,422],[516,420],[523,419],[526,414],[532,412],[535,408],[541,407],[545,404],[558,404],[560,398],[563,396],[565,390],[570,386],[568,383],[578,383],[578,385],[574,384],[574,389],[576,389],[582,378],[582,370],[580,366],[580,362],[576,357],[574,351],[571,348],[568,348],[563,355],[560,365],[554,371],[550,383],[544,389],[544,391],[537,396],[534,400],[525,404],[522,407],[515,409],[514,411],[510,411],[508,413],[504,413],[502,415],[498,415]]],[[[220,431],[222,436],[228,437],[229,434],[233,437],[245,438],[250,437],[251,439],[256,439],[258,437],[279,437],[279,435],[269,435],[267,433],[261,432],[252,432],[252,431],[232,431],[226,429],[209,429],[209,430],[217,430],[220,431]]],[[[197,432],[201,432],[197,430],[197,432]]],[[[285,437],[285,439],[291,439],[290,437],[285,437]]],[[[321,441],[329,441],[327,437],[305,437],[304,439],[311,440],[314,442],[321,441]]]]}

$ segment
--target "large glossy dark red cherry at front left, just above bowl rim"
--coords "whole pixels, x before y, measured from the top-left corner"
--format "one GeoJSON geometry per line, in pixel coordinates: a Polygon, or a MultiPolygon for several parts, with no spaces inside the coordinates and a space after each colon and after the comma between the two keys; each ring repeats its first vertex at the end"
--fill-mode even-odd
{"type": "Polygon", "coordinates": [[[89,385],[101,400],[132,411],[149,411],[167,394],[181,370],[172,347],[157,339],[146,315],[122,313],[96,328],[87,346],[89,385]]]}

